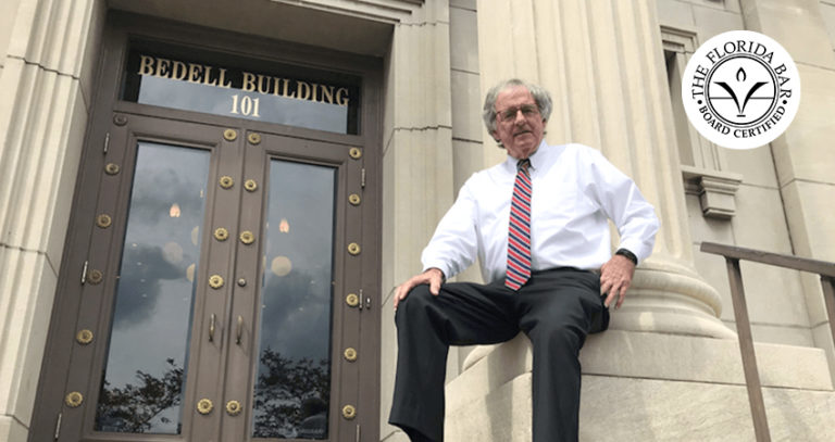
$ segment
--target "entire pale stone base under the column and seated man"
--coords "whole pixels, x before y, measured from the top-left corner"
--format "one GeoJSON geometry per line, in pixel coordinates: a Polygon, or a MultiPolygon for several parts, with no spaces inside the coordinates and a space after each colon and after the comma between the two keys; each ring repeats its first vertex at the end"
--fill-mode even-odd
{"type": "MultiPolygon", "coordinates": [[[[757,344],[772,440],[835,440],[835,391],[820,349],[757,344]]],[[[447,386],[446,440],[531,441],[526,338],[497,346],[447,386]]],[[[581,440],[749,441],[735,341],[608,331],[583,350],[581,440]]]]}

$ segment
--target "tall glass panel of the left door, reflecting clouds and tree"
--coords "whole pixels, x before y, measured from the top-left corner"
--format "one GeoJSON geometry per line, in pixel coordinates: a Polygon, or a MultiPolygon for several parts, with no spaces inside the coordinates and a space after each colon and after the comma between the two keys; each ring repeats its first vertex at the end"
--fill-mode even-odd
{"type": "Polygon", "coordinates": [[[98,431],[180,432],[209,156],[139,142],[98,431]]]}

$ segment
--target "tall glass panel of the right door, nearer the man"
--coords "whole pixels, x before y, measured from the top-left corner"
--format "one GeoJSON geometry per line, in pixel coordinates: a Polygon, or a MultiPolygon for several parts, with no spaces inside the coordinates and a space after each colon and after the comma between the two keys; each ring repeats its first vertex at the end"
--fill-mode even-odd
{"type": "Polygon", "coordinates": [[[253,435],[325,439],[336,169],[270,165],[253,435]]]}

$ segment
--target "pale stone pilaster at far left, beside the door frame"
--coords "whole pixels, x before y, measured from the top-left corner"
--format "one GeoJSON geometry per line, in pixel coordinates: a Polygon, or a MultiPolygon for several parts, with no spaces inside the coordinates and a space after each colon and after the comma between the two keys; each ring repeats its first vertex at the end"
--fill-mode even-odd
{"type": "Polygon", "coordinates": [[[95,0],[0,3],[2,441],[27,438],[103,15],[95,0]]]}

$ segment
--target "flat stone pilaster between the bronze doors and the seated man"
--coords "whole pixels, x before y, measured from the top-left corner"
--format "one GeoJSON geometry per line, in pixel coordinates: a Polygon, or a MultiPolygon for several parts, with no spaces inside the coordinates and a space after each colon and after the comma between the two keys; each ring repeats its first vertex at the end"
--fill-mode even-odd
{"type": "Polygon", "coordinates": [[[421,251],[453,201],[449,3],[428,1],[394,26],[383,125],[381,439],[389,426],[397,334],[395,287],[421,270],[421,251]]]}

